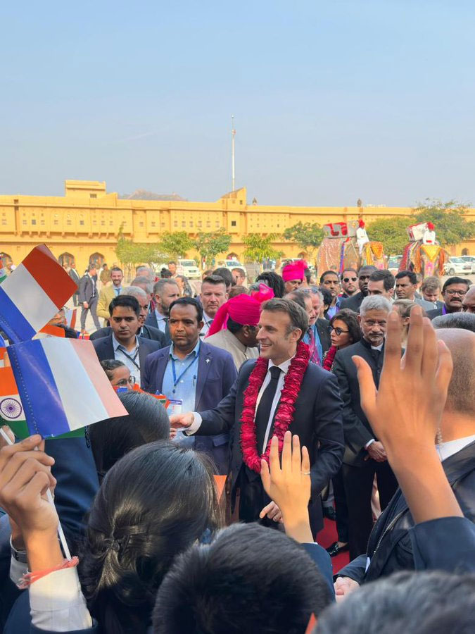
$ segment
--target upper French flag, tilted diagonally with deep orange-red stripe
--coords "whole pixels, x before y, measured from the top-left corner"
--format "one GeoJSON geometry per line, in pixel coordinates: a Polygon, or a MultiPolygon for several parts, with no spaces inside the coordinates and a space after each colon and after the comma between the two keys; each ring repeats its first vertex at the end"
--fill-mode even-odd
{"type": "Polygon", "coordinates": [[[30,340],[75,290],[48,247],[34,247],[0,286],[0,329],[13,343],[30,340]]]}

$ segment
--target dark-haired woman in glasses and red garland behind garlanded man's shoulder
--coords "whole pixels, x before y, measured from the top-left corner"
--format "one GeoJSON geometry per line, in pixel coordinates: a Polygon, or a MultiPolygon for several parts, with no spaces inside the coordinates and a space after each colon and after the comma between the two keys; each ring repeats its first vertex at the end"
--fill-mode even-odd
{"type": "MultiPolygon", "coordinates": [[[[361,339],[357,313],[350,311],[350,309],[341,309],[339,313],[336,313],[330,321],[330,339],[331,347],[324,355],[323,367],[325,370],[331,372],[336,352],[361,339]]],[[[331,544],[331,546],[327,548],[327,552],[330,557],[336,557],[337,554],[348,550],[348,508],[346,506],[345,487],[343,485],[341,470],[332,478],[331,482],[333,483],[335,499],[338,541],[331,544]]],[[[328,514],[325,515],[328,516],[328,514]]]]}

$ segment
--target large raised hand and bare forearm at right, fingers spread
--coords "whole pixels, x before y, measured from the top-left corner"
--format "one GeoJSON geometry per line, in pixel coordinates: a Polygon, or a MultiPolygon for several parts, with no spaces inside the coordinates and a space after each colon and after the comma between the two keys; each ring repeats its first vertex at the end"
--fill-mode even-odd
{"type": "Polygon", "coordinates": [[[414,521],[462,516],[435,445],[452,375],[452,356],[437,341],[419,306],[411,311],[403,359],[400,334],[399,316],[390,313],[377,392],[367,363],[353,357],[362,409],[386,449],[414,521]]]}

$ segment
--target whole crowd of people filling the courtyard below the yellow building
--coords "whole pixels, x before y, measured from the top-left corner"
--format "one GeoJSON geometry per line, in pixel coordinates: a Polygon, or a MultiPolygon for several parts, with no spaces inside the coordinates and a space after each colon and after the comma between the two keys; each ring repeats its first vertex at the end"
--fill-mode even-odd
{"type": "Polygon", "coordinates": [[[2,631],[471,631],[469,280],[67,268],[128,415],[0,438],[2,631]]]}

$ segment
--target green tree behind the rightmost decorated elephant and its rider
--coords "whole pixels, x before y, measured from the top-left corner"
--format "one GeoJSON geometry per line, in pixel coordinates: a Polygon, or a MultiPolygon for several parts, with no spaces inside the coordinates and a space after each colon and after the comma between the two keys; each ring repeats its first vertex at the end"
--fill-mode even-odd
{"type": "Polygon", "coordinates": [[[459,244],[475,235],[475,222],[466,220],[469,207],[455,200],[442,202],[426,198],[414,207],[416,223],[433,223],[436,239],[442,247],[459,244]]]}

